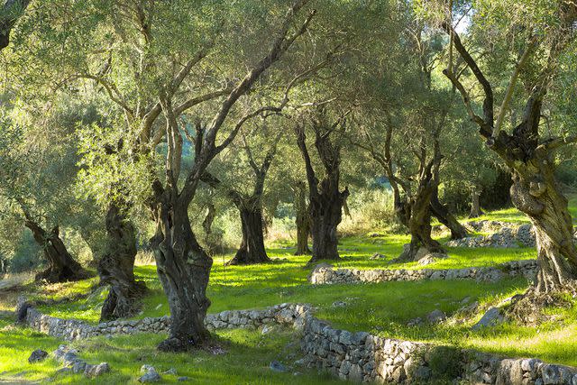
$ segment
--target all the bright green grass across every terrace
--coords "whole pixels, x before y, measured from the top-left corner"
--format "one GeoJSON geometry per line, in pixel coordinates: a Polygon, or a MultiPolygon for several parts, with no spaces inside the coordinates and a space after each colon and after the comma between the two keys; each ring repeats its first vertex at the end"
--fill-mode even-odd
{"type": "MultiPolygon", "coordinates": [[[[577,200],[572,199],[575,213],[577,200]]],[[[521,222],[514,210],[500,210],[485,215],[487,219],[521,222]]],[[[343,260],[338,267],[359,269],[418,269],[414,263],[389,264],[408,242],[408,236],[382,234],[357,236],[343,239],[340,252],[343,260]],[[387,259],[370,260],[374,252],[387,255],[387,259]]],[[[487,307],[502,298],[522,292],[527,281],[502,280],[498,283],[473,283],[474,281],[421,281],[384,282],[370,285],[331,285],[311,287],[307,284],[310,268],[305,268],[308,257],[293,256],[289,245],[270,245],[273,263],[224,268],[227,258],[216,257],[208,287],[208,296],[213,305],[210,312],[225,309],[267,307],[282,302],[310,303],[317,307],[316,316],[332,324],[351,330],[367,331],[372,334],[426,341],[438,344],[453,344],[473,347],[487,352],[509,356],[533,356],[547,362],[561,362],[577,366],[577,310],[575,307],[550,309],[554,321],[537,328],[519,325],[500,325],[472,332],[466,323],[444,323],[442,325],[407,326],[408,320],[425,317],[434,309],[452,314],[468,303],[478,300],[487,307]],[[333,307],[335,301],[343,301],[345,307],[333,307]]],[[[466,249],[448,248],[449,259],[426,266],[432,269],[457,269],[468,266],[492,266],[504,261],[535,258],[535,251],[518,249],[466,249]]],[[[166,298],[160,288],[154,266],[138,266],[136,274],[151,289],[144,300],[143,316],[162,316],[169,313],[166,298]]],[[[35,298],[59,299],[77,293],[90,292],[96,278],[80,282],[48,285],[41,288],[25,286],[35,298]]],[[[0,297],[0,310],[14,305],[17,292],[0,297]]],[[[88,298],[74,302],[43,307],[42,311],[52,316],[73,317],[96,323],[105,291],[96,291],[88,298]]],[[[481,313],[477,318],[481,316],[481,313]]],[[[179,375],[188,376],[193,383],[332,383],[316,371],[293,368],[289,373],[270,371],[272,360],[292,364],[299,358],[298,346],[293,343],[289,331],[279,330],[270,335],[258,331],[224,331],[217,334],[226,354],[212,356],[208,353],[161,354],[154,349],[162,335],[115,336],[113,339],[90,339],[77,343],[82,356],[88,362],[109,362],[113,373],[106,377],[109,383],[131,383],[138,377],[143,363],[152,363],[160,370],[174,367],[179,375]],[[293,376],[293,371],[302,372],[293,376]]],[[[19,373],[27,380],[42,380],[53,377],[58,369],[56,362],[29,365],[26,359],[36,348],[47,351],[55,349],[61,342],[39,335],[31,330],[15,327],[0,318],[0,378],[17,380],[19,373]]],[[[79,376],[59,376],[56,383],[81,383],[79,376]]],[[[176,377],[166,376],[166,381],[176,377]]],[[[89,382],[89,381],[87,381],[89,382]]],[[[2,381],[0,380],[0,383],[2,381]]]]}

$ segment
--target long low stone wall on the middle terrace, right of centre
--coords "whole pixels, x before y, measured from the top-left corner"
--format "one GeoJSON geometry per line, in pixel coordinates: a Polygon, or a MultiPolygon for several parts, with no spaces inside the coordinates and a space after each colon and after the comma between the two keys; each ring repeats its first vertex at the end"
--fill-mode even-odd
{"type": "Polygon", "coordinates": [[[497,268],[464,268],[447,270],[357,270],[336,269],[330,265],[317,265],[309,276],[312,284],[333,283],[377,283],[391,280],[477,280],[496,281],[504,277],[524,276],[533,280],[536,275],[537,261],[510,261],[497,268]]]}

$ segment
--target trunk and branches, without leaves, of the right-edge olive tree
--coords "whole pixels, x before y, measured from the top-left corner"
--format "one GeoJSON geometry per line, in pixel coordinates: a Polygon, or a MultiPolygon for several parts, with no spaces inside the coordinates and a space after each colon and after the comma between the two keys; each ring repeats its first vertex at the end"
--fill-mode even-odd
{"type": "MultiPolygon", "coordinates": [[[[554,150],[564,145],[577,142],[577,137],[543,138],[539,133],[541,109],[548,84],[554,72],[556,60],[569,41],[572,24],[577,18],[577,6],[566,3],[560,8],[560,29],[552,39],[549,56],[546,59],[541,75],[536,80],[525,104],[521,123],[512,133],[500,130],[499,122],[507,110],[507,97],[499,112],[497,124],[494,118],[493,89],[471,54],[464,47],[459,35],[450,24],[444,24],[447,33],[452,35],[455,49],[464,62],[472,69],[476,80],[484,93],[483,114],[477,115],[471,106],[466,89],[453,71],[444,70],[454,87],[463,96],[473,122],[479,125],[481,136],[486,138],[487,145],[504,160],[511,171],[513,185],[510,188],[513,204],[525,213],[536,228],[536,248],[539,270],[535,287],[531,294],[548,295],[552,292],[576,291],[577,250],[572,241],[572,219],[568,202],[554,177],[554,150]]],[[[529,42],[522,58],[534,50],[535,41],[529,42]]],[[[524,61],[519,60],[511,78],[516,80],[524,61]]]]}

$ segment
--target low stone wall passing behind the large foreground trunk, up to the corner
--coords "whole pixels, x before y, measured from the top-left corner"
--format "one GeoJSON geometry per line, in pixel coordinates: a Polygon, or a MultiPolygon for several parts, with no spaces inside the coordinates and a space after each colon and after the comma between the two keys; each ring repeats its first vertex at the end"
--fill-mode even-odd
{"type": "MultiPolygon", "coordinates": [[[[206,327],[215,329],[258,328],[261,325],[289,324],[294,325],[301,305],[283,304],[263,310],[230,310],[206,316],[206,327]]],[[[16,310],[18,311],[18,310],[16,310]]],[[[131,335],[134,333],[168,333],[169,316],[146,317],[130,321],[110,321],[98,325],[89,325],[75,319],[62,319],[41,314],[34,307],[28,307],[26,324],[46,335],[77,340],[97,335],[131,335]]]]}

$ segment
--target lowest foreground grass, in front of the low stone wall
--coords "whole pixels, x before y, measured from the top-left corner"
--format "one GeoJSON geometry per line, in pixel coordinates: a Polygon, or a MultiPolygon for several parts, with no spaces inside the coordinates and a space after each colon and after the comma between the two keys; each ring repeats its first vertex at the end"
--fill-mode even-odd
{"type": "MultiPolygon", "coordinates": [[[[226,330],[218,332],[217,343],[226,353],[213,355],[206,352],[160,353],[156,344],[164,335],[117,335],[112,339],[91,338],[75,342],[79,356],[88,363],[109,362],[111,373],[97,380],[88,380],[82,374],[56,374],[60,363],[52,358],[29,364],[28,356],[34,349],[55,350],[61,342],[55,338],[34,333],[29,329],[8,325],[0,320],[0,382],[3,380],[50,380],[58,384],[138,384],[142,364],[151,364],[158,371],[175,368],[178,375],[162,375],[161,383],[177,383],[179,376],[187,376],[185,383],[208,384],[336,384],[343,383],[326,373],[317,373],[294,365],[300,358],[298,344],[292,332],[278,329],[261,335],[258,331],[226,330]],[[269,369],[277,360],[288,366],[288,372],[269,369]],[[294,375],[298,372],[298,375],[294,375]]],[[[179,382],[181,383],[181,382],[179,382]]]]}

